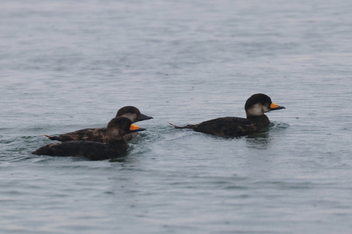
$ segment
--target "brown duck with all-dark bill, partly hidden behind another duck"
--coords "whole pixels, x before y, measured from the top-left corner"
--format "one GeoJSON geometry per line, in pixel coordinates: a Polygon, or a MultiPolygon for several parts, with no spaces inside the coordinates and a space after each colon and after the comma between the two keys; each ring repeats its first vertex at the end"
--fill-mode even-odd
{"type": "MultiPolygon", "coordinates": [[[[141,114],[139,109],[134,106],[125,106],[119,109],[116,117],[126,117],[132,121],[132,123],[153,119],[151,116],[141,114]]],[[[126,141],[131,140],[137,136],[137,132],[129,133],[124,135],[126,141]]],[[[44,135],[50,140],[57,141],[95,141],[95,142],[107,142],[106,128],[85,128],[74,132],[64,133],[58,136],[44,135]]]]}

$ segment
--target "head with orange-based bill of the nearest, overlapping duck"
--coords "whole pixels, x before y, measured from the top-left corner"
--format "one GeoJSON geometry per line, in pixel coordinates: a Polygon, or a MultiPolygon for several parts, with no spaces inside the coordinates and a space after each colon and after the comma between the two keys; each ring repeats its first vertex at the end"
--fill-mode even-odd
{"type": "Polygon", "coordinates": [[[122,136],[127,133],[144,131],[145,128],[140,128],[137,125],[132,124],[132,121],[126,117],[116,117],[110,120],[106,127],[106,133],[108,135],[108,142],[113,140],[120,140],[122,136]]]}

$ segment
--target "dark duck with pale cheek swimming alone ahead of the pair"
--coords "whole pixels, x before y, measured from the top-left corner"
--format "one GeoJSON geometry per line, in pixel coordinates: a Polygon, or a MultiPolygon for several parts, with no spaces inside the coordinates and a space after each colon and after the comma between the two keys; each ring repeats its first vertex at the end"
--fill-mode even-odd
{"type": "Polygon", "coordinates": [[[264,113],[286,108],[276,105],[269,96],[258,93],[247,99],[244,109],[247,118],[222,117],[183,127],[170,124],[175,128],[191,128],[196,132],[217,136],[244,136],[257,133],[269,125],[269,118],[264,113]]]}

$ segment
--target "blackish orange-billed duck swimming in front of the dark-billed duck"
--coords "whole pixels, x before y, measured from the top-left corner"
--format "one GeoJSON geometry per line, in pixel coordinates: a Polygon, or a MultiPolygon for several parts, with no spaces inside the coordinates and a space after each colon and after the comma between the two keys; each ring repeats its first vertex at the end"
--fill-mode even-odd
{"type": "Polygon", "coordinates": [[[40,147],[32,152],[38,155],[50,156],[84,156],[90,160],[105,160],[116,158],[124,153],[128,144],[124,135],[144,131],[132,124],[132,121],[126,117],[113,118],[106,127],[107,143],[94,141],[67,141],[49,144],[40,147]]]}

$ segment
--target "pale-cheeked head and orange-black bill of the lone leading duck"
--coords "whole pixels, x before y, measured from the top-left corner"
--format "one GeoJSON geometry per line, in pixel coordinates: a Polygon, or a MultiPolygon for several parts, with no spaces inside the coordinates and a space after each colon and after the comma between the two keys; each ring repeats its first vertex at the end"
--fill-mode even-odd
{"type": "Polygon", "coordinates": [[[250,116],[260,116],[269,111],[286,108],[276,105],[271,101],[269,96],[262,93],[257,93],[253,94],[249,99],[247,99],[244,109],[248,118],[250,116]]]}

